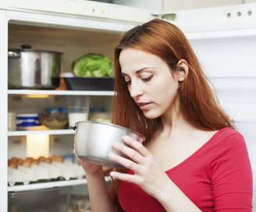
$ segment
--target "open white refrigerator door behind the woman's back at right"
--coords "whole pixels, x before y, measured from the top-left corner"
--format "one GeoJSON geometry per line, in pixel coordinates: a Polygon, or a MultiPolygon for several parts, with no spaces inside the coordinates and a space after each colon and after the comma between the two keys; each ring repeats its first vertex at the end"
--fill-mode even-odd
{"type": "MultiPolygon", "coordinates": [[[[169,12],[183,30],[226,113],[247,143],[256,180],[256,4],[169,12]]],[[[256,196],[254,183],[254,196],[256,196]]],[[[254,207],[256,200],[254,197],[254,207]]]]}

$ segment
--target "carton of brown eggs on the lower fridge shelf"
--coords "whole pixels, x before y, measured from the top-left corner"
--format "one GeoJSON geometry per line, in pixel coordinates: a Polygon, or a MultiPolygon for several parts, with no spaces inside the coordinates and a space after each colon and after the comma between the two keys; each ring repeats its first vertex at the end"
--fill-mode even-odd
{"type": "Polygon", "coordinates": [[[71,155],[62,157],[11,157],[8,160],[8,185],[29,185],[40,182],[84,178],[84,169],[71,155]]]}

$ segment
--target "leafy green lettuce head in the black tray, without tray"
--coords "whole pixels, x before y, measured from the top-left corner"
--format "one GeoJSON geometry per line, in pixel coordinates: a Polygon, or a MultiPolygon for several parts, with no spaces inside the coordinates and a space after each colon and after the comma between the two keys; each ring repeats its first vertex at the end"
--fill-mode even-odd
{"type": "Polygon", "coordinates": [[[79,77],[112,77],[112,62],[105,55],[89,53],[77,58],[72,63],[75,76],[79,77]]]}

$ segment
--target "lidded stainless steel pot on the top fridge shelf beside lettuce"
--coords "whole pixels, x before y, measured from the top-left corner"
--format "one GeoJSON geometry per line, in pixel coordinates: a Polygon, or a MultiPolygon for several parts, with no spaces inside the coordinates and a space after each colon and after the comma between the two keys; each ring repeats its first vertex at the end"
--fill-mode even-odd
{"type": "Polygon", "coordinates": [[[30,45],[8,51],[8,83],[11,89],[59,87],[61,52],[31,50],[30,45]]]}

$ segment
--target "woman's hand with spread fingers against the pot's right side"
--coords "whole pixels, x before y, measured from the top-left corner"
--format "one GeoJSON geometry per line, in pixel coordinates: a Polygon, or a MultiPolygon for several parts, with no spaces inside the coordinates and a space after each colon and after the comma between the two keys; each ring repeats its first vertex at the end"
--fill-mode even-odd
{"type": "Polygon", "coordinates": [[[170,181],[169,177],[160,168],[150,151],[142,143],[133,140],[130,136],[123,136],[123,142],[126,145],[123,143],[114,143],[112,147],[126,155],[129,159],[113,152],[109,154],[109,158],[133,171],[134,175],[119,173],[117,171],[111,171],[110,175],[113,178],[132,182],[140,186],[141,189],[144,189],[149,195],[154,196],[155,199],[160,198],[162,189],[165,189],[166,183],[168,184],[170,181]]]}

